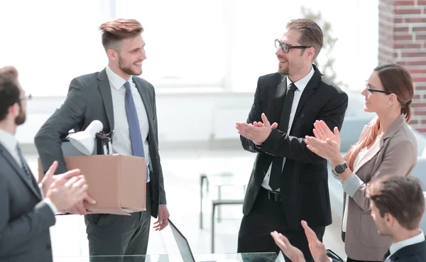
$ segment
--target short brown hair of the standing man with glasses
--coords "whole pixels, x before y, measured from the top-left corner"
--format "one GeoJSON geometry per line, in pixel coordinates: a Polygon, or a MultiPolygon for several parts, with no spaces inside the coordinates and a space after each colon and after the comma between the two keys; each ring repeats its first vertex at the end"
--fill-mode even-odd
{"type": "Polygon", "coordinates": [[[320,26],[310,19],[300,18],[294,19],[287,23],[288,30],[295,30],[300,32],[300,45],[312,46],[315,48],[315,58],[320,54],[323,38],[320,26]]]}

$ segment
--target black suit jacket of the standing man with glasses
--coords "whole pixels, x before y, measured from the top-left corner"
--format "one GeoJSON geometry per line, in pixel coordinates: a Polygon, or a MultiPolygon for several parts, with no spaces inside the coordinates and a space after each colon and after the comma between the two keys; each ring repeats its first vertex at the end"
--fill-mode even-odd
{"type": "Polygon", "coordinates": [[[288,133],[280,130],[283,94],[277,89],[282,75],[273,73],[259,77],[248,123],[261,121],[261,114],[278,122],[261,148],[241,136],[246,151],[257,153],[249,185],[244,198],[243,212],[249,214],[261,188],[263,178],[271,165],[271,155],[285,157],[280,178],[280,194],[289,229],[302,230],[300,220],[310,226],[327,226],[332,223],[327,184],[327,160],[312,153],[305,136],[313,136],[315,120],[324,120],[329,129],[342,127],[348,105],[348,96],[342,89],[327,80],[313,65],[315,73],[305,87],[297,106],[293,126],[288,133]]]}

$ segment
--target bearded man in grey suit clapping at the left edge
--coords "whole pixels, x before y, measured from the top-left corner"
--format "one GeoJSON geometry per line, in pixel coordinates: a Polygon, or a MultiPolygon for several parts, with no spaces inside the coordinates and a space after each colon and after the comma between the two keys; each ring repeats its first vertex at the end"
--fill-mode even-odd
{"type": "Polygon", "coordinates": [[[14,67],[0,68],[0,261],[52,261],[50,226],[55,212],[87,197],[80,170],[53,176],[53,163],[39,185],[15,138],[26,121],[26,97],[14,67]]]}

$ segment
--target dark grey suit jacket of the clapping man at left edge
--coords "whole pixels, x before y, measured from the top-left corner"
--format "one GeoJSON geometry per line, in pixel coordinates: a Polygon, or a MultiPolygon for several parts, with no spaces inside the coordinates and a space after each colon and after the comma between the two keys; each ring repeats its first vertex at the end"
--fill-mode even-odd
{"type": "Polygon", "coordinates": [[[52,209],[1,143],[0,167],[0,261],[52,261],[52,209]]]}

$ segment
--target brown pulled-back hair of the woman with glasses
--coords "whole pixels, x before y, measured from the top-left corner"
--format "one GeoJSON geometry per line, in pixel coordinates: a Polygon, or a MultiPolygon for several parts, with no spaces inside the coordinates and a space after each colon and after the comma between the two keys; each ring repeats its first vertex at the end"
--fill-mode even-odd
{"type": "Polygon", "coordinates": [[[406,121],[411,119],[411,102],[414,97],[413,80],[410,73],[396,64],[378,65],[374,68],[386,91],[393,92],[401,105],[401,114],[405,114],[406,121]]]}

